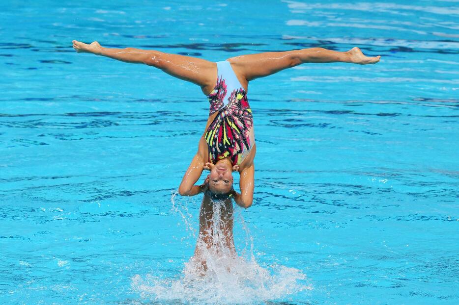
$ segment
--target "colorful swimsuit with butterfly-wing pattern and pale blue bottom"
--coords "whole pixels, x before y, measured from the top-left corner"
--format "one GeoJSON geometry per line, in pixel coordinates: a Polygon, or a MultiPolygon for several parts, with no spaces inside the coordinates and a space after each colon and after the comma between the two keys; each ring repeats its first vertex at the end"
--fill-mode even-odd
{"type": "Polygon", "coordinates": [[[217,62],[217,76],[207,96],[209,116],[218,112],[204,133],[209,159],[215,164],[229,156],[233,165],[240,165],[255,144],[252,110],[229,61],[217,62]]]}

